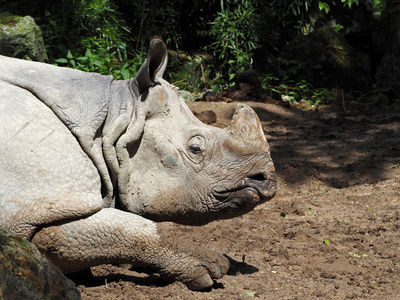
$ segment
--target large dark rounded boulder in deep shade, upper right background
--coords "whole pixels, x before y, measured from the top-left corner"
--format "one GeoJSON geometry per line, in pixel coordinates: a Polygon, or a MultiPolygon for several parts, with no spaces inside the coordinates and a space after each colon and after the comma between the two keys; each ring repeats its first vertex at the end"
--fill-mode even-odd
{"type": "Polygon", "coordinates": [[[372,80],[368,62],[333,28],[319,28],[291,41],[271,66],[280,77],[316,87],[363,90],[372,80]]]}

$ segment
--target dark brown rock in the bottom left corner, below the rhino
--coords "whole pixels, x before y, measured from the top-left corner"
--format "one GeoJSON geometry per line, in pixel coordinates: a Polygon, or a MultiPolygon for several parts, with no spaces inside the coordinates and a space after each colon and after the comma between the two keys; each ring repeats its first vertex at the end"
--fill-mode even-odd
{"type": "Polygon", "coordinates": [[[0,228],[0,299],[81,299],[35,245],[0,228]]]}

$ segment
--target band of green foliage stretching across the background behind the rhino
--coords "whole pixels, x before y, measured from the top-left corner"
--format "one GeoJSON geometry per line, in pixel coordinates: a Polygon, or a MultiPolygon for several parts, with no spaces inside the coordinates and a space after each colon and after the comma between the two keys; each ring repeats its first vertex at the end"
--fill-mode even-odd
{"type": "MultiPolygon", "coordinates": [[[[334,19],[329,26],[344,32],[356,27],[353,17],[363,13],[362,9],[378,16],[385,5],[384,0],[0,0],[0,11],[35,18],[51,63],[117,79],[134,76],[150,38],[161,36],[169,49],[183,50],[194,58],[192,65],[183,65],[170,56],[167,79],[181,89],[197,92],[225,88],[253,65],[262,74],[289,40],[317,27],[316,19],[334,19]],[[343,12],[346,18],[336,17],[343,12]],[[346,25],[339,19],[352,21],[346,25]],[[198,64],[193,53],[214,58],[198,64]]],[[[330,90],[290,80],[298,77],[304,62],[280,63],[282,72],[263,75],[271,96],[286,96],[292,102],[335,100],[330,90]]],[[[353,97],[356,102],[380,101],[381,93],[384,91],[361,91],[359,98],[353,97]]]]}

